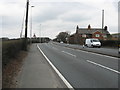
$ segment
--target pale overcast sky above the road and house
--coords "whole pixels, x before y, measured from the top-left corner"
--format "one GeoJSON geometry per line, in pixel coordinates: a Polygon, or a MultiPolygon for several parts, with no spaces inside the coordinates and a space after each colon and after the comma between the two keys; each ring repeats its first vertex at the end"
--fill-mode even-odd
{"type": "MultiPolygon", "coordinates": [[[[105,13],[104,25],[110,33],[118,32],[119,0],[30,0],[29,28],[31,10],[32,33],[36,36],[55,38],[59,32],[75,33],[76,26],[87,28],[102,27],[102,10],[105,13]],[[31,8],[31,5],[35,7],[31,8]]],[[[22,30],[26,0],[0,1],[0,28],[2,37],[17,38],[22,30]]],[[[25,30],[23,29],[23,35],[25,30]]]]}

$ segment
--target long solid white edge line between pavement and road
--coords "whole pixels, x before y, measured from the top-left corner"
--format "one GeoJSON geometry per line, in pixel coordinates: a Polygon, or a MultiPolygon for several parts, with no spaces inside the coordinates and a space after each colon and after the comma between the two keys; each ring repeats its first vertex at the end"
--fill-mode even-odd
{"type": "Polygon", "coordinates": [[[52,66],[52,68],[55,70],[55,72],[58,74],[58,76],[63,80],[63,82],[66,84],[66,86],[68,88],[70,88],[71,90],[74,90],[72,85],[65,79],[65,77],[59,72],[59,70],[52,64],[52,62],[47,58],[47,56],[43,53],[43,51],[40,49],[40,47],[38,45],[37,45],[37,48],[43,54],[43,56],[46,58],[46,60],[52,66]]]}

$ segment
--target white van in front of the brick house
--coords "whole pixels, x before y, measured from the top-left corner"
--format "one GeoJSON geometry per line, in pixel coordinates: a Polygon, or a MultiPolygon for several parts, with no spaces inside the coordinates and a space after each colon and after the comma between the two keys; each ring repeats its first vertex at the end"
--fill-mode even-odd
{"type": "Polygon", "coordinates": [[[87,47],[101,47],[101,43],[98,39],[89,38],[85,40],[85,46],[87,47]]]}

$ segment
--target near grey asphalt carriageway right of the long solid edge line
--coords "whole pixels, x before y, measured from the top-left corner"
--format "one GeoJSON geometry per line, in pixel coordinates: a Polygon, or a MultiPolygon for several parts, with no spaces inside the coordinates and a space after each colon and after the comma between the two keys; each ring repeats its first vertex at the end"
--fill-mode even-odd
{"type": "Polygon", "coordinates": [[[118,58],[53,43],[38,46],[74,88],[118,88],[118,58]]]}

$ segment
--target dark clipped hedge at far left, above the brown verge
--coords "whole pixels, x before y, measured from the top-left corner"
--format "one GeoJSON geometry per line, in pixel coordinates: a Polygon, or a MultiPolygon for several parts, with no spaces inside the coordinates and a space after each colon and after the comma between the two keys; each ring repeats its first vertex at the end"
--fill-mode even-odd
{"type": "Polygon", "coordinates": [[[8,64],[22,49],[22,39],[2,41],[2,65],[8,64]]]}

